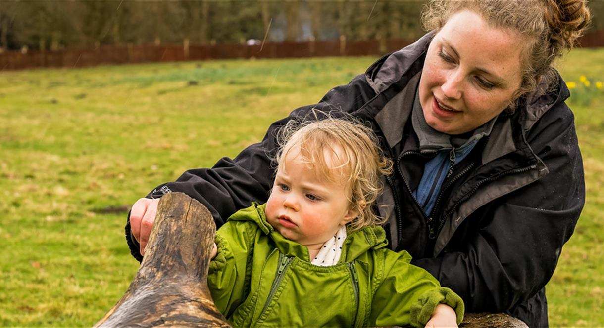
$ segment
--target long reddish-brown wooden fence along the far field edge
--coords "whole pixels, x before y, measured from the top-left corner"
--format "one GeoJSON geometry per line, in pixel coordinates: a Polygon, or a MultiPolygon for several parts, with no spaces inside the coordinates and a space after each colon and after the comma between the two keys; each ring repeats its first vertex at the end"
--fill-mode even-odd
{"type": "MultiPolygon", "coordinates": [[[[0,71],[30,68],[79,68],[103,64],[179,62],[230,58],[300,58],[326,56],[380,55],[411,42],[402,39],[347,41],[309,41],[265,43],[264,45],[127,45],[101,46],[97,49],[60,51],[7,51],[0,54],[0,71]]],[[[580,46],[604,46],[604,30],[585,34],[580,46]]]]}

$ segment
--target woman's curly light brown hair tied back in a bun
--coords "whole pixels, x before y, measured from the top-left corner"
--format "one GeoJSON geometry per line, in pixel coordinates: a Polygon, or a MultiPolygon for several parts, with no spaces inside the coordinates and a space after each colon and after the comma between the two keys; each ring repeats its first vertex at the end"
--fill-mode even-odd
{"type": "Polygon", "coordinates": [[[553,86],[557,80],[551,64],[573,48],[590,23],[585,0],[432,0],[423,10],[423,27],[438,31],[453,14],[466,9],[495,28],[524,37],[522,84],[513,100],[535,90],[541,81],[553,86]]]}

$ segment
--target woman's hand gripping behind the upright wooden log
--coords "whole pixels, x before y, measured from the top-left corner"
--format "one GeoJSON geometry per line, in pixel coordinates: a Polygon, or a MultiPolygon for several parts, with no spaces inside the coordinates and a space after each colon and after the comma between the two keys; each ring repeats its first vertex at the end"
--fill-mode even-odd
{"type": "Polygon", "coordinates": [[[132,232],[132,236],[137,239],[138,244],[141,245],[141,255],[145,254],[145,247],[147,247],[151,228],[153,227],[153,222],[155,222],[158,203],[159,198],[155,200],[141,198],[132,205],[132,210],[130,210],[130,231],[132,232]]]}

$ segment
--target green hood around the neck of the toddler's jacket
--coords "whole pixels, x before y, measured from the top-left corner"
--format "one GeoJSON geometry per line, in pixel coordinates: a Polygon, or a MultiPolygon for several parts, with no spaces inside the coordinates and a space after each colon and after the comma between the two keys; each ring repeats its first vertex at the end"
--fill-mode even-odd
{"type": "MultiPolygon", "coordinates": [[[[275,247],[286,256],[296,256],[303,260],[309,260],[308,248],[298,244],[295,241],[284,238],[278,233],[271,224],[266,221],[266,203],[259,204],[252,202],[252,206],[247,209],[239,210],[231,215],[229,221],[249,221],[258,225],[265,235],[268,235],[274,242],[275,247]]],[[[342,256],[339,262],[345,260],[351,262],[366,253],[368,250],[384,248],[388,245],[386,233],[382,227],[371,226],[364,227],[361,230],[350,232],[347,230],[344,247],[342,247],[342,256]]]]}

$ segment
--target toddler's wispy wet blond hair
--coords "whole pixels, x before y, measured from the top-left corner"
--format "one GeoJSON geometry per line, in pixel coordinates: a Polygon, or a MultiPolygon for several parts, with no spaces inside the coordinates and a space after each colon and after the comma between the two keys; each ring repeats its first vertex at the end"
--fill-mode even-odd
{"type": "Polygon", "coordinates": [[[384,188],[381,175],[390,174],[392,163],[381,153],[370,128],[353,118],[291,120],[281,127],[277,140],[279,149],[274,160],[280,168],[288,153],[300,147],[298,160],[313,169],[318,178],[349,187],[350,209],[359,213],[349,223],[352,231],[385,221],[371,207],[384,188]]]}

